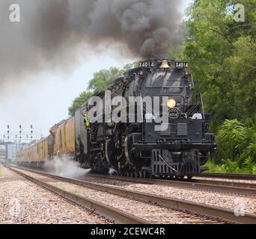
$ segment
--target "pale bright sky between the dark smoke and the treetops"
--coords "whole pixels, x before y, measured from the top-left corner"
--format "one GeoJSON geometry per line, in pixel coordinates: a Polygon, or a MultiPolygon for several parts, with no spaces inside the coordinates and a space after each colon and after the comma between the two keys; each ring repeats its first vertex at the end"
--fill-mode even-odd
{"type": "MultiPolygon", "coordinates": [[[[184,1],[183,10],[190,2],[184,1]]],[[[16,87],[10,84],[4,88],[4,96],[0,96],[0,140],[7,125],[11,131],[18,131],[19,125],[23,131],[29,131],[32,124],[35,131],[46,136],[52,125],[68,117],[67,108],[86,90],[94,72],[111,66],[122,67],[136,60],[118,54],[115,46],[101,53],[86,50],[83,55],[80,51],[79,62],[68,72],[60,74],[49,69],[27,76],[16,87]]]]}

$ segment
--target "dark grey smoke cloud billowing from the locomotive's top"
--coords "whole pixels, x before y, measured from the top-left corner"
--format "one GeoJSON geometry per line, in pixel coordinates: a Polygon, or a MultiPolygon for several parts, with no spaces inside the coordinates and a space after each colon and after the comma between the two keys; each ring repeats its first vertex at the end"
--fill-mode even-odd
{"type": "Polygon", "coordinates": [[[175,40],[181,4],[177,0],[1,0],[0,88],[6,78],[65,69],[76,61],[75,49],[84,43],[91,49],[121,43],[135,57],[163,57],[175,40]],[[20,22],[10,22],[13,3],[20,6],[20,22]]]}

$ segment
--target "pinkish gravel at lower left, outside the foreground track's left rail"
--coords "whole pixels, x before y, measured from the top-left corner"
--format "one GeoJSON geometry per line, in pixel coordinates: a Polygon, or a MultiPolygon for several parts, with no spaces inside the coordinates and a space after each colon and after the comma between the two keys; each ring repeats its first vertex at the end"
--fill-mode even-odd
{"type": "Polygon", "coordinates": [[[38,187],[0,165],[0,224],[113,223],[38,187]]]}

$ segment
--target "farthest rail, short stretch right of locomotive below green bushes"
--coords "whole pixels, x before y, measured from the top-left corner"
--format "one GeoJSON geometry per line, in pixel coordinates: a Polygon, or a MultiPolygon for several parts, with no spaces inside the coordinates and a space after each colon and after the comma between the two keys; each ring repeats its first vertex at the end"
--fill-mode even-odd
{"type": "Polygon", "coordinates": [[[253,174],[239,174],[239,173],[201,173],[197,177],[214,178],[214,179],[256,180],[256,175],[253,175],[253,174]]]}

